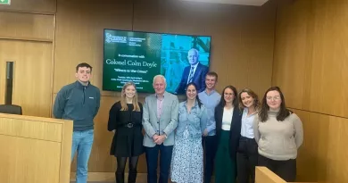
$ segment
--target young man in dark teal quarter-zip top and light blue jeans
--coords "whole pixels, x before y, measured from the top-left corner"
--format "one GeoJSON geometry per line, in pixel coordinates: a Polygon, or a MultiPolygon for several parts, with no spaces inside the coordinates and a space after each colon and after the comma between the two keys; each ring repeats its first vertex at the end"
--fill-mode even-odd
{"type": "Polygon", "coordinates": [[[94,140],[94,118],[100,106],[100,90],[93,86],[92,67],[76,67],[77,81],[62,87],[54,101],[54,117],[73,121],[71,161],[78,151],[76,183],[87,183],[88,160],[94,140]]]}

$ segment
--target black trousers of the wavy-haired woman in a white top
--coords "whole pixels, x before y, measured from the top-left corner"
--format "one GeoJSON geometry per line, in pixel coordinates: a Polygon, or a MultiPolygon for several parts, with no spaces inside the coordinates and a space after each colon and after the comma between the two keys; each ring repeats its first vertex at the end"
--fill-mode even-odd
{"type": "Polygon", "coordinates": [[[241,136],[236,153],[236,179],[238,183],[255,182],[255,166],[258,163],[258,146],[254,138],[241,136]]]}

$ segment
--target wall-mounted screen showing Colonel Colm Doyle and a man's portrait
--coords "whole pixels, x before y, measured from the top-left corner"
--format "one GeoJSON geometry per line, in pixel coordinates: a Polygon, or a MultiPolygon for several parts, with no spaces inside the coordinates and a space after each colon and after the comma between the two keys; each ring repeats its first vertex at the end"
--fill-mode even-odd
{"type": "Polygon", "coordinates": [[[185,94],[195,82],[205,89],[211,37],[104,29],[103,90],[121,91],[135,82],[140,93],[153,93],[153,77],[162,74],[166,90],[185,94]]]}

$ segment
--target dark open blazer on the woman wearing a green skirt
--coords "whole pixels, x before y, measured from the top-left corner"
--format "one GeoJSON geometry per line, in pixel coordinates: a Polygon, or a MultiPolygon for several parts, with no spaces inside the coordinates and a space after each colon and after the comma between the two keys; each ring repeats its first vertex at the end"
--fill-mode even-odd
{"type": "MultiPolygon", "coordinates": [[[[215,108],[215,121],[216,121],[216,135],[219,139],[221,135],[222,128],[222,116],[224,112],[224,107],[218,105],[215,108]]],[[[239,108],[235,107],[233,110],[231,129],[229,129],[229,155],[233,160],[236,160],[236,149],[239,143],[240,130],[242,127],[242,112],[240,112],[239,108]]]]}

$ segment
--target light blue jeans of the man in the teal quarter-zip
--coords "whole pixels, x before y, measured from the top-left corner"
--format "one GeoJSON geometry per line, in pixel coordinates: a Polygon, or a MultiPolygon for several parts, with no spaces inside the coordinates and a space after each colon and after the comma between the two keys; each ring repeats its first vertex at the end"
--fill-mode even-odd
{"type": "Polygon", "coordinates": [[[88,160],[92,151],[94,129],[72,133],[71,162],[78,151],[76,183],[87,183],[88,160]]]}

